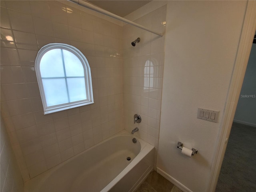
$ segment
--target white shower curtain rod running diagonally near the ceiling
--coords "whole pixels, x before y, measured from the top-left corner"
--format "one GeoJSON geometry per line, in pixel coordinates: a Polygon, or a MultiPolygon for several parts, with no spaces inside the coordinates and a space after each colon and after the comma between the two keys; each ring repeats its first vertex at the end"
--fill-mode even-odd
{"type": "Polygon", "coordinates": [[[102,13],[102,14],[104,14],[104,15],[110,16],[110,17],[112,17],[112,18],[115,18],[115,19],[120,20],[120,21],[122,21],[122,22],[128,23],[128,24],[130,24],[130,25],[136,26],[136,27],[141,28],[141,29],[143,29],[143,30],[146,30],[146,31],[148,31],[148,32],[151,32],[151,33],[154,33],[154,34],[156,34],[156,35],[159,35],[159,36],[161,36],[161,37],[163,36],[162,33],[155,32],[155,31],[153,31],[153,30],[151,30],[151,29],[148,29],[148,28],[146,28],[146,27],[144,27],[144,26],[142,26],[142,25],[140,25],[140,24],[137,24],[137,23],[135,23],[135,22],[132,22],[132,21],[126,19],[126,18],[120,17],[120,16],[118,16],[118,15],[116,15],[116,14],[113,14],[113,13],[111,13],[111,12],[108,12],[108,11],[102,9],[102,8],[99,8],[99,7],[97,7],[97,6],[94,6],[94,5],[92,5],[92,4],[88,3],[88,2],[84,2],[84,1],[81,1],[81,0],[68,0],[68,1],[73,2],[73,3],[76,3],[76,4],[80,5],[80,6],[85,7],[85,8],[94,10],[94,11],[96,11],[96,12],[102,13]]]}

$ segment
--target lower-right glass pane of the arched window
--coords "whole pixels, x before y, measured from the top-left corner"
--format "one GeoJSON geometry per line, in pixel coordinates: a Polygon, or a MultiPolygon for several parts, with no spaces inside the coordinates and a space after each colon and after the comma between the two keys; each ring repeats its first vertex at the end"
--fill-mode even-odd
{"type": "Polygon", "coordinates": [[[67,82],[70,102],[86,99],[84,78],[67,78],[67,82]]]}

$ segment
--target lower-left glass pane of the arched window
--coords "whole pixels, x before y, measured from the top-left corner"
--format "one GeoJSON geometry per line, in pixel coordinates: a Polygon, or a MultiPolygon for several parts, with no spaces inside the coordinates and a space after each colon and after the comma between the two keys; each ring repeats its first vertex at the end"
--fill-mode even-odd
{"type": "Polygon", "coordinates": [[[64,78],[42,79],[47,106],[68,103],[68,94],[64,78]]]}

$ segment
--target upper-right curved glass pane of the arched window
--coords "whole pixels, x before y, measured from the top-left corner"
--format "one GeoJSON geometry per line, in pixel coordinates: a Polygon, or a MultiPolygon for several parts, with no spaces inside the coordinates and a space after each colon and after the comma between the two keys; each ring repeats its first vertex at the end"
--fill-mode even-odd
{"type": "Polygon", "coordinates": [[[63,49],[66,76],[84,77],[84,67],[79,58],[68,50],[63,49]]]}

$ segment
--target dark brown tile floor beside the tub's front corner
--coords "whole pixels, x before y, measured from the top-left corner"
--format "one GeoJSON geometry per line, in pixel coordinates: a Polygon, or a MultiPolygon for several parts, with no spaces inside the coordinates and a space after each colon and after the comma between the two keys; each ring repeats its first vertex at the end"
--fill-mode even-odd
{"type": "Polygon", "coordinates": [[[153,171],[140,185],[136,192],[182,192],[163,176],[153,171]]]}

